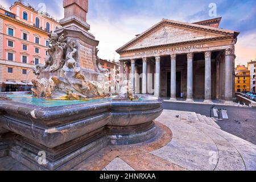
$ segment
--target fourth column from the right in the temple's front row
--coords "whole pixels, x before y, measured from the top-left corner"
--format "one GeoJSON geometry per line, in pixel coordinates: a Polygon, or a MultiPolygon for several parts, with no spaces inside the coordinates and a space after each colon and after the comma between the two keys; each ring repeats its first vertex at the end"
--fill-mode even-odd
{"type": "Polygon", "coordinates": [[[176,55],[171,55],[171,98],[176,100],[176,55]]]}

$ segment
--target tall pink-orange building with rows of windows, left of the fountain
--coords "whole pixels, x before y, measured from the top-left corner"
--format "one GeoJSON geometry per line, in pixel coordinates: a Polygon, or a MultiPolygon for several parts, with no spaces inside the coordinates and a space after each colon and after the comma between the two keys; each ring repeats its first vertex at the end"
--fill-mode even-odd
{"type": "Polygon", "coordinates": [[[32,68],[43,64],[49,37],[60,27],[47,13],[21,1],[0,7],[0,91],[23,91],[36,78],[32,68]]]}

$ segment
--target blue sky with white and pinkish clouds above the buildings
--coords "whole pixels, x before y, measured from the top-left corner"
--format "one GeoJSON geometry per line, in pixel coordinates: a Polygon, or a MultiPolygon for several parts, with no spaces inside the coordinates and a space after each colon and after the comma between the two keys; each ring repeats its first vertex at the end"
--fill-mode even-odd
{"type": "MultiPolygon", "coordinates": [[[[8,8],[13,2],[0,0],[0,5],[8,8]]],[[[24,3],[44,8],[56,19],[64,17],[62,0],[24,0],[24,3]]],[[[220,28],[241,32],[236,44],[236,64],[247,65],[255,60],[256,0],[89,0],[87,22],[89,32],[100,41],[98,55],[118,60],[116,49],[163,18],[197,22],[220,16],[220,28]],[[212,11],[215,5],[216,11],[212,11]]]]}

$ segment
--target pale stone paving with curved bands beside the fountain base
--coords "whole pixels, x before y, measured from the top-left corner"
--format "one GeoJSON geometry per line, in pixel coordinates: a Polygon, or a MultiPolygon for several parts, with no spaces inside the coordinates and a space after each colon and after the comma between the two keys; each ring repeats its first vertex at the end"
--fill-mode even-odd
{"type": "MultiPolygon", "coordinates": [[[[256,145],[226,133],[211,118],[164,110],[156,125],[156,138],[134,145],[107,146],[73,170],[256,171],[256,145]]],[[[0,169],[27,168],[5,157],[0,159],[0,169]]]]}

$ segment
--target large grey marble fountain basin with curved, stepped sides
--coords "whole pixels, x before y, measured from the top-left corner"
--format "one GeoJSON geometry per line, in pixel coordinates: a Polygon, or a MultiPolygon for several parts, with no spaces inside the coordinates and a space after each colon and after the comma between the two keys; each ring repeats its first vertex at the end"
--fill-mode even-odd
{"type": "Polygon", "coordinates": [[[163,111],[162,101],[147,99],[48,107],[23,102],[29,104],[0,101],[0,156],[10,155],[34,170],[68,170],[108,144],[150,140],[158,132],[154,119],[163,111]],[[46,164],[38,163],[40,151],[46,164]]]}

